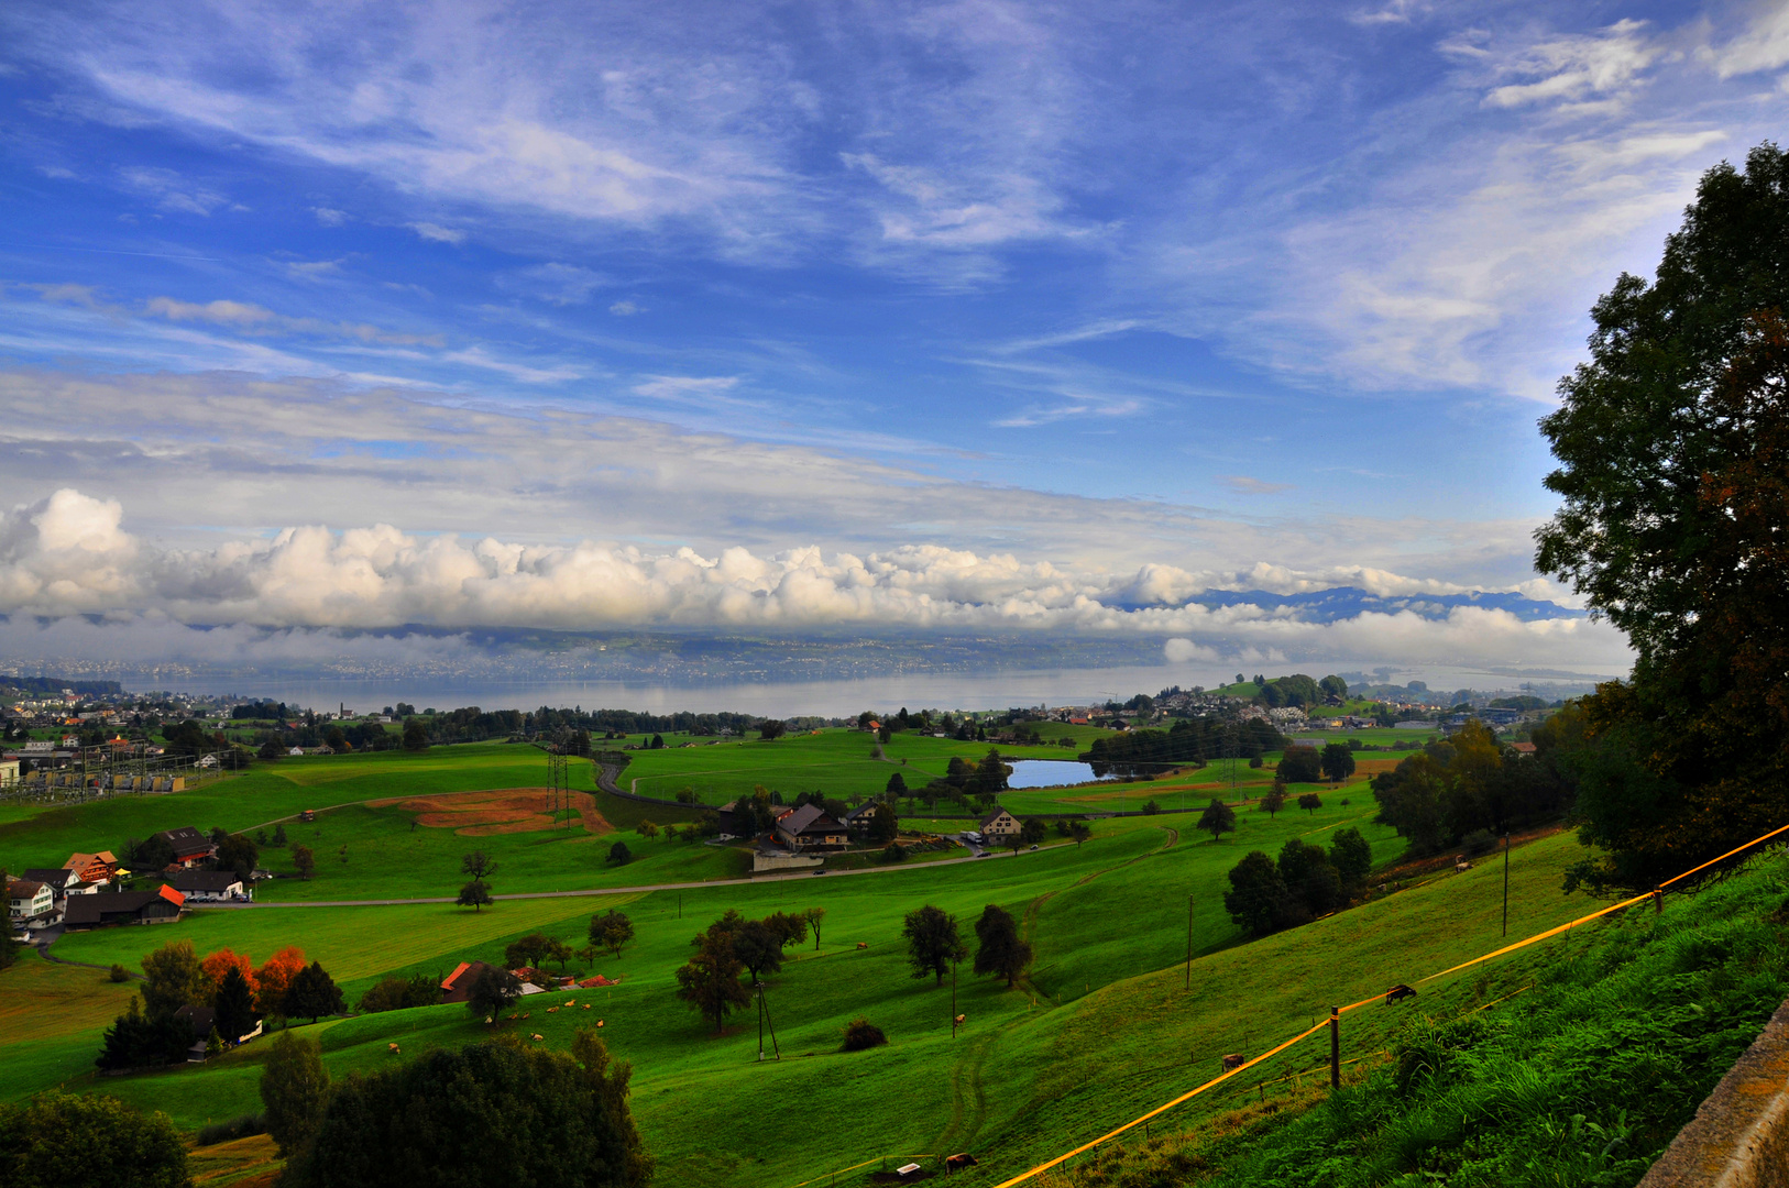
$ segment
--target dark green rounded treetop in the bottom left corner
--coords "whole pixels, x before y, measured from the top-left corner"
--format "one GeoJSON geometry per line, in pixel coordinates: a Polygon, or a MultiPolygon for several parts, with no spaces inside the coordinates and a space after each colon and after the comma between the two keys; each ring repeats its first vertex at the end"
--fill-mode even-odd
{"type": "Polygon", "coordinates": [[[186,1188],[186,1143],[165,1113],[116,1097],[48,1091],[0,1106],[0,1183],[7,1188],[186,1188]]]}

